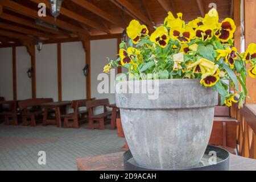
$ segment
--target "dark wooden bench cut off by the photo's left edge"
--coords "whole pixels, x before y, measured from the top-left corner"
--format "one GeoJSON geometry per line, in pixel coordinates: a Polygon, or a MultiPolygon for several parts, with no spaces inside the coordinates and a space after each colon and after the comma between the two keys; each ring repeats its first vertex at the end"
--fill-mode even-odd
{"type": "Polygon", "coordinates": [[[5,118],[5,125],[10,125],[10,118],[12,118],[12,124],[18,125],[17,119],[17,101],[2,101],[2,105],[7,105],[7,110],[2,111],[0,115],[3,115],[5,118]]]}

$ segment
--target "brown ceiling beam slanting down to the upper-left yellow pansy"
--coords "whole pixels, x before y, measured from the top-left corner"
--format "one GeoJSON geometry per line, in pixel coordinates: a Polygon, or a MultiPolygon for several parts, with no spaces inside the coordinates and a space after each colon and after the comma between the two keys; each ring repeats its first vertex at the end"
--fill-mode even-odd
{"type": "Polygon", "coordinates": [[[127,0],[118,0],[118,2],[121,6],[125,7],[128,11],[130,11],[132,14],[134,14],[139,20],[141,20],[143,23],[147,24],[148,28],[151,30],[154,30],[154,27],[152,26],[152,22],[141,13],[134,5],[132,5],[127,0]]]}

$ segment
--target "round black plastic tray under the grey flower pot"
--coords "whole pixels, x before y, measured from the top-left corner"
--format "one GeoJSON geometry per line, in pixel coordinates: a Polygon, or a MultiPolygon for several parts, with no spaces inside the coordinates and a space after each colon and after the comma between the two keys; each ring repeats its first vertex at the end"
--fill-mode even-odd
{"type": "Polygon", "coordinates": [[[123,166],[126,171],[229,171],[229,152],[223,148],[208,145],[204,152],[203,159],[201,160],[200,164],[195,167],[183,169],[157,169],[139,166],[133,159],[133,155],[131,154],[130,150],[128,150],[123,154],[123,166]],[[210,151],[216,152],[218,158],[216,164],[208,163],[210,151]]]}

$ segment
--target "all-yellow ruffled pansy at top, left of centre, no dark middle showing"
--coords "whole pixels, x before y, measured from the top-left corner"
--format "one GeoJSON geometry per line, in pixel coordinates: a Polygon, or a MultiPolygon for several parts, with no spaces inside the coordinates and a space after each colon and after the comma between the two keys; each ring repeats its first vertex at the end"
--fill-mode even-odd
{"type": "Polygon", "coordinates": [[[182,13],[177,13],[177,18],[169,11],[168,16],[164,19],[164,25],[170,28],[184,27],[185,22],[182,20],[182,13]]]}

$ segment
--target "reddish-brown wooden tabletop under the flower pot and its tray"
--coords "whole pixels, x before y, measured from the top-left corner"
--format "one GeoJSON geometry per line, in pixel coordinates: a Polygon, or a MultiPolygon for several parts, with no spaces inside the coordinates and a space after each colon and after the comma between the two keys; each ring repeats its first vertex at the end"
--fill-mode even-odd
{"type": "MultiPolygon", "coordinates": [[[[230,154],[230,171],[256,171],[256,160],[230,154]]],[[[79,171],[123,171],[123,152],[77,159],[79,171]]]]}

